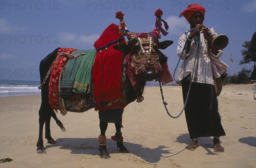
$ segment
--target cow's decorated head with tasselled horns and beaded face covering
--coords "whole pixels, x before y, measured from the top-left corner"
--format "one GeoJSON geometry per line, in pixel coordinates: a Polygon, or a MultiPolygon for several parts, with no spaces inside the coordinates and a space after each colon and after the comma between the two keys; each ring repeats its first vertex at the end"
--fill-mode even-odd
{"type": "MultiPolygon", "coordinates": [[[[158,73],[162,71],[159,58],[163,56],[163,53],[161,53],[159,49],[165,49],[173,43],[172,41],[159,42],[158,40],[161,37],[160,32],[162,32],[163,35],[168,34],[161,27],[160,16],[162,14],[163,11],[160,9],[155,12],[157,20],[154,31],[148,33],[134,33],[128,31],[126,28],[125,21],[123,20],[124,14],[122,14],[121,11],[116,13],[116,18],[120,20],[119,32],[123,36],[127,36],[128,45],[116,45],[114,48],[127,53],[126,62],[128,62],[128,64],[126,65],[129,66],[128,69],[132,71],[134,76],[137,76],[137,78],[143,81],[153,81],[157,79],[158,73]]],[[[166,22],[165,27],[168,29],[166,22]]]]}

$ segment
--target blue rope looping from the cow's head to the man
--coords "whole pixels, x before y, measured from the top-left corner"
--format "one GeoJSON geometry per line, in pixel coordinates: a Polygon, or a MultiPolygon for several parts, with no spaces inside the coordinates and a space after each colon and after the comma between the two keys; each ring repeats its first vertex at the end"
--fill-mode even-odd
{"type": "MultiPolygon", "coordinates": [[[[192,32],[193,30],[194,30],[195,28],[192,28],[190,31],[188,31],[187,32],[187,34],[186,34],[186,42],[185,42],[185,45],[184,45],[184,47],[183,47],[183,49],[182,49],[182,52],[181,52],[181,56],[182,56],[182,54],[183,54],[183,52],[184,52],[184,50],[187,48],[187,43],[188,43],[188,41],[192,41],[192,40],[195,40],[195,42],[196,42],[196,39],[192,39],[192,40],[190,40],[189,39],[189,35],[188,35],[188,33],[189,32],[192,32]]],[[[200,42],[200,33],[198,32],[198,41],[200,42]]],[[[198,44],[198,53],[199,53],[199,44],[198,44]]],[[[198,56],[198,54],[197,54],[197,56],[198,56]]],[[[181,58],[181,57],[180,57],[181,58]]],[[[185,58],[186,59],[186,58],[185,58]]],[[[178,63],[177,63],[177,65],[176,65],[176,68],[175,68],[175,71],[177,70],[177,67],[178,67],[178,64],[180,63],[180,59],[179,59],[179,61],[178,61],[178,63]]],[[[198,61],[197,61],[197,65],[198,65],[198,61]]],[[[195,70],[195,63],[194,63],[194,67],[193,67],[193,72],[194,72],[194,70],[195,70]]],[[[173,74],[173,78],[174,78],[174,80],[175,80],[175,71],[174,71],[174,74],[173,74]]],[[[193,73],[192,73],[192,75],[193,75],[193,73]]],[[[158,81],[159,81],[159,84],[160,84],[160,92],[161,92],[161,95],[162,95],[162,100],[163,100],[163,105],[164,105],[164,107],[165,107],[165,109],[166,109],[166,112],[167,112],[167,114],[171,117],[171,118],[179,118],[180,117],[180,115],[182,114],[182,112],[184,111],[184,109],[185,109],[185,107],[186,107],[186,104],[187,104],[187,101],[188,101],[188,98],[189,98],[189,92],[190,92],[190,89],[191,89],[191,85],[192,85],[192,80],[193,80],[193,78],[194,78],[194,76],[191,76],[191,80],[190,80],[190,84],[189,84],[189,90],[188,90],[188,93],[187,93],[187,95],[186,95],[186,101],[185,101],[185,103],[184,103],[184,106],[183,106],[183,109],[181,110],[181,112],[179,113],[179,115],[177,115],[176,117],[175,116],[172,116],[170,113],[169,113],[169,111],[168,111],[168,109],[167,109],[167,103],[166,103],[166,101],[164,101],[164,96],[163,96],[163,89],[162,89],[162,86],[161,86],[161,81],[160,81],[160,75],[158,74],[158,81]]],[[[175,80],[176,81],[176,80],[175,80]]]]}

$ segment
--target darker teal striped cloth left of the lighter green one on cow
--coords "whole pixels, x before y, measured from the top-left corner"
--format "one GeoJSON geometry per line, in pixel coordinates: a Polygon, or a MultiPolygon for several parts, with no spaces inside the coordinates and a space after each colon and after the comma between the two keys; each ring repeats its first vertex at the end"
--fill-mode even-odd
{"type": "MultiPolygon", "coordinates": [[[[76,50],[72,53],[72,55],[76,55],[79,53],[85,53],[86,50],[76,50]]],[[[60,98],[69,98],[72,95],[73,85],[76,78],[76,73],[79,69],[83,56],[79,56],[73,59],[70,59],[67,63],[66,70],[61,79],[61,87],[60,87],[60,98]]]]}

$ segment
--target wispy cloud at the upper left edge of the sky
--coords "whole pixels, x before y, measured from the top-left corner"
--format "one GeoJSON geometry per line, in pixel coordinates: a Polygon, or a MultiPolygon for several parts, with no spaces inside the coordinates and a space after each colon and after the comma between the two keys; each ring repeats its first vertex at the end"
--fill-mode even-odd
{"type": "Polygon", "coordinates": [[[26,30],[26,27],[21,27],[12,24],[7,19],[0,18],[0,30],[2,33],[12,33],[14,31],[24,31],[26,30]]]}

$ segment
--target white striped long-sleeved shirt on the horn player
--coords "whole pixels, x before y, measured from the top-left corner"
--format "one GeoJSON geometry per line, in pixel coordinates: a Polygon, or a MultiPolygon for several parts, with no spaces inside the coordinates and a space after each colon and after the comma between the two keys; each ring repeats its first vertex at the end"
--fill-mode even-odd
{"type": "MultiPolygon", "coordinates": [[[[214,32],[213,29],[210,31],[214,32]]],[[[213,34],[215,34],[215,32],[213,34]]],[[[186,54],[185,50],[183,51],[185,42],[186,32],[180,36],[177,47],[177,55],[184,61],[177,74],[176,83],[181,85],[181,80],[191,74],[193,82],[214,85],[210,55],[219,58],[223,50],[219,50],[217,56],[214,55],[207,46],[207,40],[204,39],[203,33],[200,34],[200,39],[197,38],[191,42],[188,54],[186,54]]]]}

